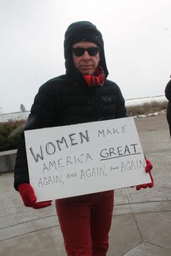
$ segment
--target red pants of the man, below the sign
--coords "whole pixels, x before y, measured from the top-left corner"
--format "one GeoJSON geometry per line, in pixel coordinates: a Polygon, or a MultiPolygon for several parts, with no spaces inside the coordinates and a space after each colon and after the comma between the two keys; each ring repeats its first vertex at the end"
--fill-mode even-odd
{"type": "Polygon", "coordinates": [[[106,256],[113,203],[113,190],[56,200],[68,256],[106,256]]]}

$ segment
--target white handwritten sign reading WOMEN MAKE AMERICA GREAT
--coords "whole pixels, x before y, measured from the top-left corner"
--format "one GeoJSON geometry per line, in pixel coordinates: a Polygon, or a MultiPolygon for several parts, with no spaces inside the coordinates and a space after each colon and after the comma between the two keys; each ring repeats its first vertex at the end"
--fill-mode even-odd
{"type": "Polygon", "coordinates": [[[37,202],[150,183],[133,117],[25,131],[37,202]]]}

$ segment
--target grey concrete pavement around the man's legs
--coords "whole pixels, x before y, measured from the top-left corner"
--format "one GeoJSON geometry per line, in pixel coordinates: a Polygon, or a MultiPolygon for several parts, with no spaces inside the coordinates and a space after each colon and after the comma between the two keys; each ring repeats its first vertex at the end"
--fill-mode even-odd
{"type": "MultiPolygon", "coordinates": [[[[171,255],[171,140],[166,115],[135,120],[143,151],[154,164],[155,187],[115,191],[107,256],[171,255]]],[[[23,206],[13,173],[0,175],[0,255],[66,256],[52,207],[23,206]]]]}

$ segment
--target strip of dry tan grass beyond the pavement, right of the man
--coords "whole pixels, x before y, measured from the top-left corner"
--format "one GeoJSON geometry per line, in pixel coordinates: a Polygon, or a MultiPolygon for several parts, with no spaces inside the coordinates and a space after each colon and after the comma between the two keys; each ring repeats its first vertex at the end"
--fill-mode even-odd
{"type": "Polygon", "coordinates": [[[155,112],[166,111],[167,101],[151,101],[144,104],[131,105],[126,107],[128,116],[138,116],[140,114],[153,114],[155,112]]]}

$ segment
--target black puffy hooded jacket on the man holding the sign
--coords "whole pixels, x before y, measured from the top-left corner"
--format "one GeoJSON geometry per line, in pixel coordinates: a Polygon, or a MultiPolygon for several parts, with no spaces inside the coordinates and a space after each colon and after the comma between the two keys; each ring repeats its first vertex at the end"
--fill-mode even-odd
{"type": "MultiPolygon", "coordinates": [[[[70,33],[70,29],[67,31],[69,34],[66,32],[64,46],[72,42],[71,37],[74,35],[74,27],[77,31],[77,25],[75,27],[75,23],[73,23],[71,26],[72,33],[70,33]]],[[[81,22],[79,23],[80,27],[81,22]]],[[[105,64],[101,33],[90,22],[82,22],[81,31],[84,31],[84,28],[95,30],[101,39],[101,66],[107,77],[108,70],[105,64]]],[[[75,70],[69,57],[69,48],[64,48],[64,50],[67,67],[66,75],[53,78],[40,87],[31,107],[25,130],[126,117],[125,101],[119,87],[107,79],[103,87],[89,87],[81,73],[75,70]],[[70,69],[67,61],[70,63],[70,69]]],[[[17,150],[14,169],[14,187],[16,190],[21,183],[29,183],[23,134],[17,150]]]]}

